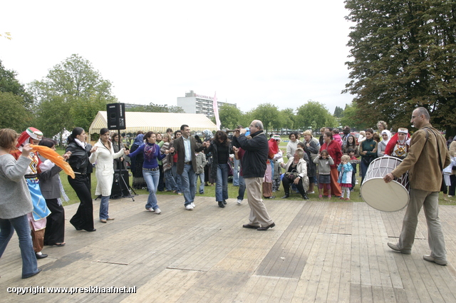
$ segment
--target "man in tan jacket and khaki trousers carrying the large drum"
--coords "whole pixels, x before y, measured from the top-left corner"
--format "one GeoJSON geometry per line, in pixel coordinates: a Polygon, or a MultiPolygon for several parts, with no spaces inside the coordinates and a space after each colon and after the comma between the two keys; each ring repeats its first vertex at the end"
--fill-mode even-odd
{"type": "Polygon", "coordinates": [[[430,116],[423,107],[416,108],[410,123],[419,128],[410,141],[407,157],[383,180],[389,183],[393,178],[409,170],[410,202],[403,220],[399,242],[388,242],[388,246],[405,255],[412,253],[415,231],[418,225],[418,214],[425,207],[425,217],[429,237],[430,255],[424,255],[427,262],[447,265],[447,251],[439,218],[439,191],[442,184],[442,168],[450,165],[450,154],[445,139],[429,123],[430,116]]]}

